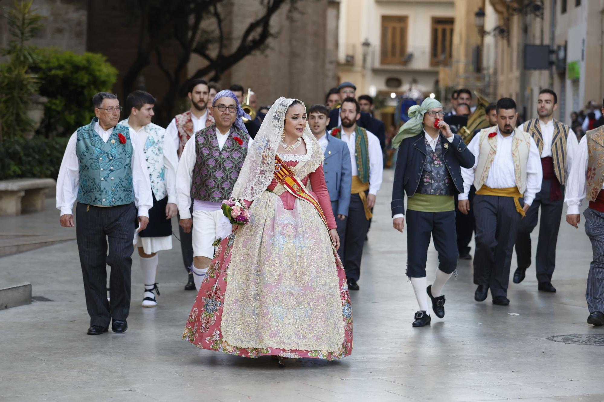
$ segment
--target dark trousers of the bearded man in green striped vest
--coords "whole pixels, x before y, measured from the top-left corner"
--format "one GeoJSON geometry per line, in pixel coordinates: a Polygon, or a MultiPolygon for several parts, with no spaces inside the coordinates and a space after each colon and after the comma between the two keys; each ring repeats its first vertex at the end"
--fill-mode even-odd
{"type": "MultiPolygon", "coordinates": [[[[365,192],[367,195],[368,191],[365,192]]],[[[361,257],[365,245],[365,235],[369,228],[369,220],[365,217],[365,209],[359,194],[350,194],[350,206],[345,228],[342,255],[346,278],[358,281],[361,277],[361,257]]],[[[342,247],[341,247],[342,248],[342,247]]]]}

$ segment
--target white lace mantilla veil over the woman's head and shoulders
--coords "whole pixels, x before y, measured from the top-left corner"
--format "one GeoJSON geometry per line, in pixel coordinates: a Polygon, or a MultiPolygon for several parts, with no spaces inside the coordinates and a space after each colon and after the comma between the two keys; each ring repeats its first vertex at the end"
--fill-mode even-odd
{"type": "MultiPolygon", "coordinates": [[[[252,201],[266,191],[271,184],[275,170],[275,155],[277,155],[277,147],[281,141],[285,124],[285,113],[294,101],[296,99],[280,97],[266,113],[260,130],[248,148],[248,155],[243,162],[231,197],[252,201]]],[[[299,102],[304,104],[302,101],[299,102]]],[[[306,144],[307,154],[312,154],[312,158],[309,161],[300,162],[296,166],[300,179],[315,171],[323,163],[324,158],[321,146],[312,135],[308,124],[306,124],[302,138],[306,144]]]]}

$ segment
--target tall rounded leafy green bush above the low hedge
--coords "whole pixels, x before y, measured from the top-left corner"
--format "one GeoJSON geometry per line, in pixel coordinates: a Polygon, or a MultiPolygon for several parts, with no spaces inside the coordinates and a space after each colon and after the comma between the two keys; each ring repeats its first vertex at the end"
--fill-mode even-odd
{"type": "Polygon", "coordinates": [[[94,117],[92,97],[111,91],[117,69],[98,53],[76,54],[56,48],[36,51],[30,66],[37,75],[40,95],[48,98],[38,133],[46,136],[69,136],[94,117]]]}

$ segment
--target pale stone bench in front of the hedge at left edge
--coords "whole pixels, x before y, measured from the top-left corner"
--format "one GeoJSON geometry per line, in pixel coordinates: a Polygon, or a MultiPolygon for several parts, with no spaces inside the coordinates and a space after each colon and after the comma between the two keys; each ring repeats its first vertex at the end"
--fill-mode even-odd
{"type": "Polygon", "coordinates": [[[53,179],[0,180],[0,215],[43,211],[46,193],[55,186],[53,179]]]}

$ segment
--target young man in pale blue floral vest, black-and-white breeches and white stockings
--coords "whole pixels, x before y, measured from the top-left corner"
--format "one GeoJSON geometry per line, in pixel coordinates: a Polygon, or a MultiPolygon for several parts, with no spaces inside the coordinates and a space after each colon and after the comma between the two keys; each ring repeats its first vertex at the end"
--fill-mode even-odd
{"type": "Polygon", "coordinates": [[[126,98],[130,111],[127,119],[120,121],[137,133],[147,160],[147,170],[153,190],[153,208],[149,209],[149,225],[138,234],[138,257],[143,272],[143,307],[155,307],[155,293],[160,250],[172,249],[172,218],[176,216],[176,167],[178,156],[174,141],[164,128],[151,123],[155,98],[144,91],[134,91],[126,98]]]}

